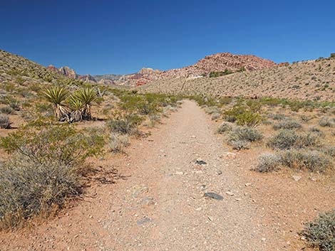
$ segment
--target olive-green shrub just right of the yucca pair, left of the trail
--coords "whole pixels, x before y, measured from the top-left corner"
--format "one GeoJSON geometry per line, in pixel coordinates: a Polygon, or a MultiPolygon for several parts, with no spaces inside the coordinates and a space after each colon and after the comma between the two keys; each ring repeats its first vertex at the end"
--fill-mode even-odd
{"type": "Polygon", "coordinates": [[[143,122],[143,118],[136,114],[115,113],[107,125],[112,132],[120,134],[135,134],[138,132],[138,125],[141,122],[143,122]]]}

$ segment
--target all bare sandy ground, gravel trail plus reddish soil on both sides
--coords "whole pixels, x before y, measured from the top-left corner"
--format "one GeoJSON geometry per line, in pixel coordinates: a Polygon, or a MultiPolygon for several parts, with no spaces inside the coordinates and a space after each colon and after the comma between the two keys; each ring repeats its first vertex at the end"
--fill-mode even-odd
{"type": "Polygon", "coordinates": [[[215,128],[185,101],[126,156],[96,161],[83,200],[1,233],[0,250],[300,250],[303,221],[334,207],[334,180],[255,173],[259,153],[230,152],[215,128]]]}

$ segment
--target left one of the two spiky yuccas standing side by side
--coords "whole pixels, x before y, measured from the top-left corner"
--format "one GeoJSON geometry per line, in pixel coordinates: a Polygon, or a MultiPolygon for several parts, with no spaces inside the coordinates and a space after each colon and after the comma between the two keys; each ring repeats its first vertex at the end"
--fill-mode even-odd
{"type": "Polygon", "coordinates": [[[68,90],[64,87],[53,86],[44,90],[43,95],[46,100],[53,105],[57,119],[62,119],[68,114],[68,109],[65,104],[65,100],[68,97],[68,90]]]}

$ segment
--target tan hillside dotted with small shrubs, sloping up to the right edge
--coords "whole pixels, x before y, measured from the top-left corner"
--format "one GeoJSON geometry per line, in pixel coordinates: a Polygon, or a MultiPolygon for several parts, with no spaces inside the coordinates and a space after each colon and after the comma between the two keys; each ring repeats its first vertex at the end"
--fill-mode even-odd
{"type": "Polygon", "coordinates": [[[183,95],[331,101],[334,100],[334,78],[335,57],[330,57],[232,74],[169,78],[139,88],[143,92],[183,95]]]}

